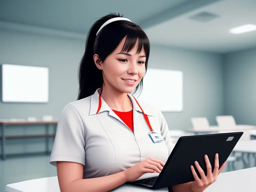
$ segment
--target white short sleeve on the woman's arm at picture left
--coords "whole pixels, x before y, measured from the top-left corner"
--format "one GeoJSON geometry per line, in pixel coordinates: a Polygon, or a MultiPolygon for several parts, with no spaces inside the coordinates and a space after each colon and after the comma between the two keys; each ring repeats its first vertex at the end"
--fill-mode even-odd
{"type": "Polygon", "coordinates": [[[50,164],[70,161],[85,165],[85,136],[82,120],[76,109],[68,104],[62,110],[50,156],[50,164]]]}

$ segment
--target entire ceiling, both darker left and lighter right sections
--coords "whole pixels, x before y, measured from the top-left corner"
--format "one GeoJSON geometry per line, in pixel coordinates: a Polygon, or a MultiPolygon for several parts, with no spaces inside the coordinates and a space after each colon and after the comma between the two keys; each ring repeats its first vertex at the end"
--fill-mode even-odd
{"type": "Polygon", "coordinates": [[[228,53],[256,46],[256,31],[228,33],[256,24],[255,10],[256,0],[0,0],[0,28],[85,39],[98,18],[119,12],[139,24],[151,44],[228,53]],[[189,19],[205,11],[218,17],[189,19]]]}

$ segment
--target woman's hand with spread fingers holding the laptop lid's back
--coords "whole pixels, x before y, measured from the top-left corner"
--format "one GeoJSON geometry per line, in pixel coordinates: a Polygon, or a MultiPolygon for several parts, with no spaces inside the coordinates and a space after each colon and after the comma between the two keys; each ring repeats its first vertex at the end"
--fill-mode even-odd
{"type": "Polygon", "coordinates": [[[192,174],[194,176],[195,181],[193,181],[190,185],[191,190],[193,192],[202,192],[204,191],[209,185],[211,185],[213,182],[217,180],[218,175],[220,172],[224,169],[226,162],[223,163],[221,168],[219,169],[219,157],[218,154],[215,154],[215,165],[214,170],[212,172],[212,167],[210,164],[210,161],[208,159],[208,156],[205,155],[205,162],[207,167],[207,176],[205,176],[203,169],[200,167],[198,162],[195,162],[196,168],[201,175],[201,179],[198,177],[195,168],[191,165],[192,174]]]}

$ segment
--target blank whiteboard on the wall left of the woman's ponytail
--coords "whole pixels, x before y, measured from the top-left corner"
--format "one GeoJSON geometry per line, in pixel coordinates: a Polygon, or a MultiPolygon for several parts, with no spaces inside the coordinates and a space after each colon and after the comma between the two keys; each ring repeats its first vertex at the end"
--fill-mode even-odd
{"type": "Polygon", "coordinates": [[[46,103],[48,89],[48,68],[2,64],[3,102],[46,103]]]}

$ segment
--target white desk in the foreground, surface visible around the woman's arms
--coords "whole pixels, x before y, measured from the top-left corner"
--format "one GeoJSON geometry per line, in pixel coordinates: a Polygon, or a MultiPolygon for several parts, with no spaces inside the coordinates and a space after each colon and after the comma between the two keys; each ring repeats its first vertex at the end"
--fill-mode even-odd
{"type": "MultiPolygon", "coordinates": [[[[204,192],[255,192],[256,167],[221,173],[215,183],[204,192]]],[[[146,192],[150,189],[131,185],[122,185],[113,192],[146,192]]],[[[167,188],[154,191],[168,191],[167,188]]],[[[58,178],[48,177],[13,183],[6,186],[6,192],[60,192],[58,178]]]]}

